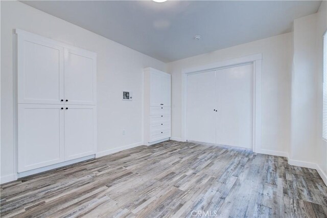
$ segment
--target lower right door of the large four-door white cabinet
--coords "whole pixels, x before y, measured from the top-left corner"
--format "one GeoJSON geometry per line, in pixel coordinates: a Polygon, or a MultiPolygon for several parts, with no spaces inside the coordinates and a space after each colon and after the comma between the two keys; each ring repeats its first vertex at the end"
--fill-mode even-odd
{"type": "Polygon", "coordinates": [[[65,105],[65,160],[95,154],[96,107],[65,105]]]}

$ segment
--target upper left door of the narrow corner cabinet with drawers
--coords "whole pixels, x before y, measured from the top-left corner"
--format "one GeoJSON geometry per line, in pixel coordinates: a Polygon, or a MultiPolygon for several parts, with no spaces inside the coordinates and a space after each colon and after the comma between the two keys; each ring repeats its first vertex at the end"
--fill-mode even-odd
{"type": "Polygon", "coordinates": [[[162,106],[162,75],[151,72],[150,74],[150,106],[162,106]]]}

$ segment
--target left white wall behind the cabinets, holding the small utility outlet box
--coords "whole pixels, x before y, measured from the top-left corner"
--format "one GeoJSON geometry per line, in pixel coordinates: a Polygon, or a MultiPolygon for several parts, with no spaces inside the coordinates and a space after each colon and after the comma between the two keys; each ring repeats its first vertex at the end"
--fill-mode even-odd
{"type": "MultiPolygon", "coordinates": [[[[98,151],[142,144],[143,68],[166,71],[166,63],[20,2],[1,1],[1,177],[14,173],[13,29],[22,29],[98,54],[98,151]],[[133,101],[122,101],[122,91],[133,101]],[[126,135],[122,135],[123,129],[126,135]]],[[[112,30],[114,31],[114,30],[112,30]]]]}

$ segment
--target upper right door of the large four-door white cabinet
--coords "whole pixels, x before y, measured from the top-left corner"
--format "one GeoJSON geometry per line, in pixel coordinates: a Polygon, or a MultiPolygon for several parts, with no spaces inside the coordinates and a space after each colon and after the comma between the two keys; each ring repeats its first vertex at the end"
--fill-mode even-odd
{"type": "Polygon", "coordinates": [[[96,54],[65,48],[65,104],[96,104],[96,54]]]}

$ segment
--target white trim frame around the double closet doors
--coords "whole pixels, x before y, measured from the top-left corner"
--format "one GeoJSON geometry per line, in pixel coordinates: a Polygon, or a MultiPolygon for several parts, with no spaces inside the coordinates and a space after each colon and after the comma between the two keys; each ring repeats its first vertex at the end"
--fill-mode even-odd
{"type": "Polygon", "coordinates": [[[225,68],[237,67],[245,64],[253,64],[253,140],[252,150],[261,153],[261,101],[262,101],[262,53],[253,54],[229,60],[223,60],[215,63],[197,66],[181,71],[181,87],[182,87],[182,110],[181,110],[181,138],[186,141],[187,130],[187,76],[194,73],[201,73],[207,71],[221,70],[225,68]]]}

